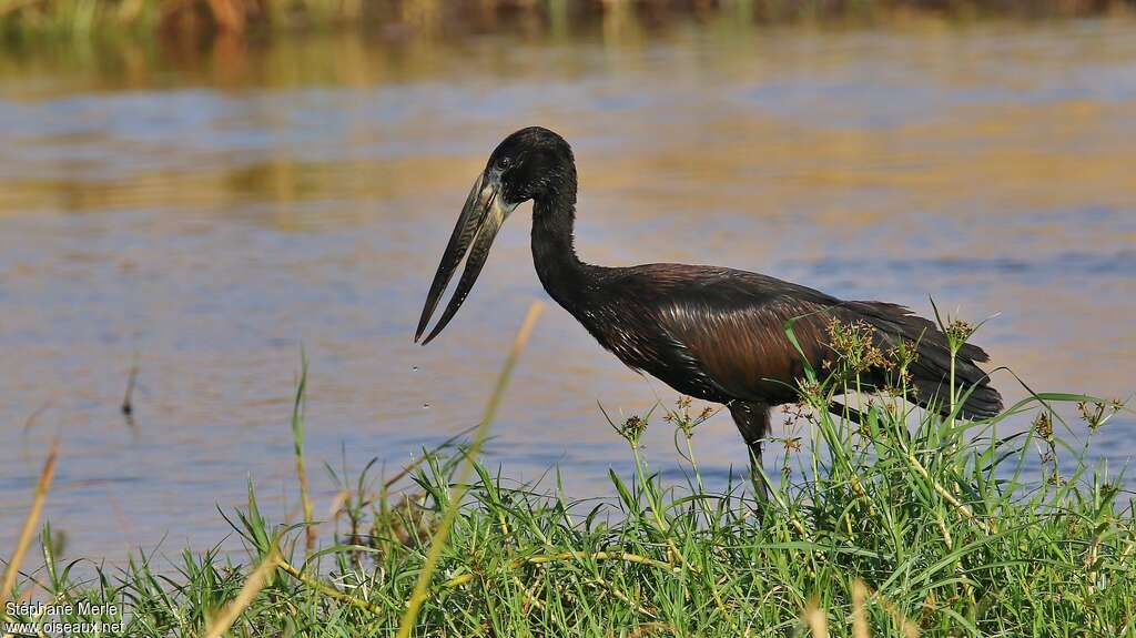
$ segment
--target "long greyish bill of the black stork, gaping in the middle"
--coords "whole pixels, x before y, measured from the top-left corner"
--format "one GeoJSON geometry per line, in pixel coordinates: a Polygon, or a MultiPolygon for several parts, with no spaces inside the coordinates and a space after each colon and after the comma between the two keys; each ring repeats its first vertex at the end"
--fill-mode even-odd
{"type": "Polygon", "coordinates": [[[450,279],[458,270],[461,259],[466,258],[466,269],[461,272],[461,279],[458,280],[458,287],[453,292],[453,296],[450,297],[450,303],[445,307],[442,318],[434,325],[434,329],[421,341],[421,344],[428,344],[457,314],[462,302],[469,296],[469,291],[474,287],[474,282],[477,280],[482,267],[485,266],[493,238],[515,208],[517,208],[516,204],[507,204],[501,199],[499,174],[482,174],[474,182],[474,187],[470,188],[469,196],[466,198],[466,205],[462,207],[461,215],[458,216],[458,224],[453,227],[453,234],[450,235],[450,243],[446,244],[445,252],[442,254],[442,261],[437,265],[437,272],[434,274],[434,283],[431,284],[426,305],[423,308],[418,329],[415,331],[416,342],[426,331],[431,316],[434,314],[437,302],[442,300],[442,293],[450,285],[450,279]],[[470,244],[473,244],[471,249],[470,244]],[[468,257],[466,257],[467,249],[469,250],[468,257]]]}

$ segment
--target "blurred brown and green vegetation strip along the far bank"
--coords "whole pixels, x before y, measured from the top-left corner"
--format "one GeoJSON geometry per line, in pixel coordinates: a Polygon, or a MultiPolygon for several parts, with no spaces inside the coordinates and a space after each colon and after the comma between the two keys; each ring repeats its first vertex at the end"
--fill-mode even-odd
{"type": "Polygon", "coordinates": [[[436,33],[485,31],[502,23],[562,32],[569,24],[594,20],[659,25],[679,14],[778,23],[874,19],[895,11],[962,18],[1084,16],[1131,7],[1133,0],[0,0],[0,33],[233,35],[348,25],[436,33]]]}

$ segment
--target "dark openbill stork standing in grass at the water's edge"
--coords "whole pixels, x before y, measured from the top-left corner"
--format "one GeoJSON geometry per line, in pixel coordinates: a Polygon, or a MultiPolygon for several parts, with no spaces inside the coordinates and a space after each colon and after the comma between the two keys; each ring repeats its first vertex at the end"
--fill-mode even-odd
{"type": "MultiPolygon", "coordinates": [[[[952,355],[946,334],[935,322],[899,304],[844,301],[746,270],[586,263],[574,242],[576,194],[576,161],[563,137],[540,126],[507,136],[469,191],[431,284],[415,342],[426,345],[450,324],[502,224],[518,205],[532,201],[533,263],[548,294],[633,370],[684,395],[727,406],[749,448],[751,469],[760,468],[770,410],[801,401],[799,381],[807,368],[821,379],[832,373],[833,321],[861,327],[869,345],[880,351],[909,346],[914,356],[907,370],[904,398],[950,411],[942,398],[950,388],[952,355]],[[462,259],[466,267],[454,293],[423,338],[462,259]]],[[[954,378],[969,392],[962,394],[958,414],[976,420],[1001,412],[1002,396],[977,366],[989,360],[986,352],[964,344],[954,359],[954,378]]],[[[878,362],[862,372],[861,389],[878,391],[886,384],[887,370],[878,362]]],[[[838,402],[828,409],[861,418],[838,402]]]]}

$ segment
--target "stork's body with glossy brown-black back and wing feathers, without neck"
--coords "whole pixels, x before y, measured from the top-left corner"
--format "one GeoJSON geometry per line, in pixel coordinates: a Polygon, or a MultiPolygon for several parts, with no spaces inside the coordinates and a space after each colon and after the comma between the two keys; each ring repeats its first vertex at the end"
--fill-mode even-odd
{"type": "MultiPolygon", "coordinates": [[[[804,361],[824,373],[837,321],[869,326],[882,349],[900,339],[917,344],[913,398],[925,403],[945,395],[950,351],[944,335],[900,305],[842,301],[775,277],[710,266],[611,268],[596,279],[576,312],[580,322],[624,363],[684,394],[716,402],[796,401],[804,361]]],[[[955,362],[958,378],[977,385],[966,408],[971,415],[1001,408],[1001,396],[975,366],[985,360],[980,349],[966,346],[955,362]]],[[[882,375],[871,370],[866,380],[882,375]]]]}

